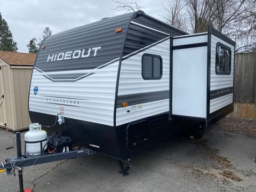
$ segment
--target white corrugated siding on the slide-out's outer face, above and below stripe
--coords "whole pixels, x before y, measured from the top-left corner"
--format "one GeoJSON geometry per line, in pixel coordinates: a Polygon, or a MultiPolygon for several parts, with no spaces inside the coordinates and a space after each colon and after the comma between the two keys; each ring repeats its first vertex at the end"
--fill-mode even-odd
{"type": "MultiPolygon", "coordinates": [[[[210,90],[218,90],[225,87],[234,86],[233,78],[234,78],[234,52],[235,47],[231,46],[225,41],[222,41],[218,37],[211,36],[211,75],[210,75],[210,90]],[[231,49],[231,73],[230,75],[220,75],[215,72],[215,57],[216,57],[216,44],[220,42],[231,49]]],[[[219,97],[216,99],[210,100],[210,113],[225,107],[233,102],[233,94],[229,94],[225,97],[219,97]]]]}

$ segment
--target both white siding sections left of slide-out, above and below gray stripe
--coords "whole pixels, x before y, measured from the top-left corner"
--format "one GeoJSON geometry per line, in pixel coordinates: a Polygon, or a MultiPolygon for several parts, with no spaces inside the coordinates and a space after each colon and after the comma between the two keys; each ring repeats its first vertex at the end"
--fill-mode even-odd
{"type": "MultiPolygon", "coordinates": [[[[169,90],[169,73],[170,39],[167,39],[122,61],[118,95],[169,90]],[[163,75],[161,79],[145,80],[142,78],[141,58],[145,53],[161,55],[163,60],[163,75]]],[[[127,113],[127,110],[130,110],[132,106],[118,108],[116,111],[116,125],[169,111],[169,99],[140,104],[142,105],[142,109],[131,111],[132,113],[127,113]]]]}

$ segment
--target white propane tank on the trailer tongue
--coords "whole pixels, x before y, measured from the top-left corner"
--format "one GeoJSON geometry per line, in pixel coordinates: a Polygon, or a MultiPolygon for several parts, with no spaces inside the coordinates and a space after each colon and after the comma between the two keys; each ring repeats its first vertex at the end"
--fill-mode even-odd
{"type": "Polygon", "coordinates": [[[41,125],[32,123],[29,125],[29,131],[24,135],[26,154],[40,155],[41,151],[46,150],[47,133],[42,130],[41,125]],[[43,147],[45,148],[41,150],[43,147]]]}

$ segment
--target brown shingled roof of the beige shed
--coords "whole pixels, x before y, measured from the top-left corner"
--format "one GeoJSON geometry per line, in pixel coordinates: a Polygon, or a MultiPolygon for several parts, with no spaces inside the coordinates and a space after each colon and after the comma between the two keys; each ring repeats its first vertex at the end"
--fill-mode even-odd
{"type": "Polygon", "coordinates": [[[0,51],[0,59],[11,66],[33,66],[36,54],[0,51]]]}

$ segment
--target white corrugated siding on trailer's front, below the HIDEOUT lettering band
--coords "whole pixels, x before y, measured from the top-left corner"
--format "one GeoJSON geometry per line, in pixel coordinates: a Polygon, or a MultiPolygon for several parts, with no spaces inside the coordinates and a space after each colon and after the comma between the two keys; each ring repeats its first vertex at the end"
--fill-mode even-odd
{"type": "Polygon", "coordinates": [[[118,61],[76,82],[52,82],[34,69],[29,110],[57,115],[64,107],[65,117],[113,126],[117,69],[118,61]]]}

